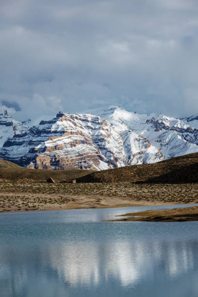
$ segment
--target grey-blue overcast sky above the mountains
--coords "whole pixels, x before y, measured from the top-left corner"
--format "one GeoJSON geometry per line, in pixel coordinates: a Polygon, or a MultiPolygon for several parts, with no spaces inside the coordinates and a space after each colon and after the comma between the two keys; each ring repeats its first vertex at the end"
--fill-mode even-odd
{"type": "Polygon", "coordinates": [[[197,0],[0,0],[0,110],[198,113],[197,0]]]}

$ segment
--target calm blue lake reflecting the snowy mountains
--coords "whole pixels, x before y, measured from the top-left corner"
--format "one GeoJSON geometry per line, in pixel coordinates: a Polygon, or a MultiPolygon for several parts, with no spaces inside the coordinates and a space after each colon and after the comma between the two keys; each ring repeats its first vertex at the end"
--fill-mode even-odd
{"type": "Polygon", "coordinates": [[[128,207],[0,214],[0,297],[198,297],[198,222],[128,207]]]}

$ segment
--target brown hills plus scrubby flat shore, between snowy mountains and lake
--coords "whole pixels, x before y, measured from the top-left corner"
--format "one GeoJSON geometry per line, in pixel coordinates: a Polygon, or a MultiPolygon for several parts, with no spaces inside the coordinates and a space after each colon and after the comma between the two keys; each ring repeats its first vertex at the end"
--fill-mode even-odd
{"type": "Polygon", "coordinates": [[[198,153],[98,172],[0,166],[0,212],[198,202],[198,153]]]}

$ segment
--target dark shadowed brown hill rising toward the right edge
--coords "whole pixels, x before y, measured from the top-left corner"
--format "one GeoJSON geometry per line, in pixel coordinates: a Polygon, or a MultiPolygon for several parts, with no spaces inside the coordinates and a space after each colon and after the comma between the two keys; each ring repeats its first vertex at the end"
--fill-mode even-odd
{"type": "Polygon", "coordinates": [[[196,168],[198,153],[174,157],[154,164],[132,165],[115,169],[92,172],[79,179],[77,182],[195,182],[198,181],[196,168]],[[188,169],[189,168],[189,169],[188,169]],[[195,176],[192,177],[192,170],[195,176]],[[170,178],[168,177],[171,173],[170,178]],[[185,176],[182,176],[185,174],[185,176]],[[177,178],[174,178],[177,176],[177,178]],[[162,177],[160,179],[160,177],[162,177]],[[153,180],[152,180],[153,179],[153,180]],[[174,181],[173,181],[174,180],[174,181]]]}

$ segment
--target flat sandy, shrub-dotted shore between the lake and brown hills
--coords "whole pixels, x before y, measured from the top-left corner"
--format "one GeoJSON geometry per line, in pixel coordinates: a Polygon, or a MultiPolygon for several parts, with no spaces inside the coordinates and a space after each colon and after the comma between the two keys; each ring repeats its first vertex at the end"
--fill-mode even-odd
{"type": "Polygon", "coordinates": [[[198,203],[198,184],[0,181],[0,212],[198,203]]]}

